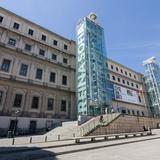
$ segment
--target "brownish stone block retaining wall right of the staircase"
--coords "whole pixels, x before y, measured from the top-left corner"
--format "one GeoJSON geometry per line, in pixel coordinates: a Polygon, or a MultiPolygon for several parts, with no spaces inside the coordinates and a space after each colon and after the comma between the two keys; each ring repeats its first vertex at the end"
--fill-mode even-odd
{"type": "Polygon", "coordinates": [[[145,128],[158,128],[160,118],[121,115],[107,126],[98,126],[89,135],[105,135],[143,131],[145,128]]]}

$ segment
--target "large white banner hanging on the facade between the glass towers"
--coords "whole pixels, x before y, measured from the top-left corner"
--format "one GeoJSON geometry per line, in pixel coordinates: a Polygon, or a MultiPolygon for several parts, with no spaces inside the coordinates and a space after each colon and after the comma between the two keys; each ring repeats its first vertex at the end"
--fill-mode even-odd
{"type": "Polygon", "coordinates": [[[140,104],[138,94],[134,90],[114,85],[114,95],[117,100],[140,104]]]}

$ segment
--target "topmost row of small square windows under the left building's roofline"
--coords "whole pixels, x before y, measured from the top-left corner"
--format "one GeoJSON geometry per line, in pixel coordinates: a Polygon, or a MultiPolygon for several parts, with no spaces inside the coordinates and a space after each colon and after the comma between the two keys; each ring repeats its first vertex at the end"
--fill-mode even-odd
{"type": "MultiPolygon", "coordinates": [[[[0,23],[2,23],[3,20],[4,20],[4,17],[0,16],[0,23]]],[[[18,30],[19,28],[20,28],[20,24],[18,24],[17,22],[14,22],[14,24],[13,24],[13,29],[18,30]]],[[[28,29],[28,35],[33,36],[33,35],[34,35],[34,30],[31,29],[31,28],[29,28],[29,29],[28,29]]],[[[47,36],[44,35],[44,34],[42,34],[42,35],[41,35],[41,40],[42,40],[42,41],[46,41],[46,40],[47,40],[47,36]]],[[[53,40],[53,45],[54,45],[54,46],[57,46],[57,45],[58,45],[58,41],[57,41],[57,40],[53,40]]],[[[68,46],[67,46],[66,44],[64,44],[63,49],[64,49],[64,50],[68,50],[68,46]]]]}

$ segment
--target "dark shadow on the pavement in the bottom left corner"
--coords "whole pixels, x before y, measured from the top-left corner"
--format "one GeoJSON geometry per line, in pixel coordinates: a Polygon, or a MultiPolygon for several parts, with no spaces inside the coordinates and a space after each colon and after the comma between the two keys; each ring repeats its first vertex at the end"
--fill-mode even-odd
{"type": "Polygon", "coordinates": [[[0,160],[58,160],[56,154],[38,147],[0,147],[0,160]]]}

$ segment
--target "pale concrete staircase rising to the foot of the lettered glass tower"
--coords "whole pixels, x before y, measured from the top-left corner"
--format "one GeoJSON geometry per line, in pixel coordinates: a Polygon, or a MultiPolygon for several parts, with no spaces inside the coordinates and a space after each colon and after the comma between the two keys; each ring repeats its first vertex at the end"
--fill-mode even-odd
{"type": "Polygon", "coordinates": [[[103,122],[100,122],[100,116],[93,117],[89,121],[78,126],[77,121],[63,122],[62,126],[57,127],[45,134],[45,136],[60,136],[60,139],[71,139],[73,137],[86,136],[91,133],[99,125],[107,125],[116,119],[120,114],[105,114],[103,115],[103,122]]]}

